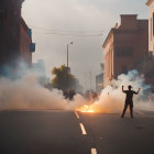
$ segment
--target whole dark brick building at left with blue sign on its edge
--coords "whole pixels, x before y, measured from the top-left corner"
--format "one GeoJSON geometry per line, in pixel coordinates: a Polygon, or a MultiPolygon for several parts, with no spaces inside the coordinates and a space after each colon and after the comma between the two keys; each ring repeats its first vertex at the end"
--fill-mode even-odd
{"type": "Polygon", "coordinates": [[[31,30],[21,16],[24,0],[0,0],[0,74],[6,74],[6,67],[15,69],[20,61],[29,66],[32,64],[31,30]]]}

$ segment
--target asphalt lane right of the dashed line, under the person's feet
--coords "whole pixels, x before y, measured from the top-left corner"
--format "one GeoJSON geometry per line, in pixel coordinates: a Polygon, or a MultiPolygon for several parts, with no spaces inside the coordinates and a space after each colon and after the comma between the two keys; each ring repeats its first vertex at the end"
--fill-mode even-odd
{"type": "Polygon", "coordinates": [[[98,154],[154,154],[154,114],[121,119],[119,114],[80,113],[89,144],[98,154]]]}

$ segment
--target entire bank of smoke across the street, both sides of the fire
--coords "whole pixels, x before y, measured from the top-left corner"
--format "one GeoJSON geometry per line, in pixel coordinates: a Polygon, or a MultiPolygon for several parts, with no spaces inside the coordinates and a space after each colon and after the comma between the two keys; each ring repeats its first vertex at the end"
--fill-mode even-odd
{"type": "MultiPolygon", "coordinates": [[[[26,67],[20,68],[18,79],[0,79],[0,110],[75,110],[88,105],[82,96],[76,95],[74,101],[64,98],[63,91],[53,89],[50,91],[38,84],[38,73],[28,70],[26,67]]],[[[120,75],[114,80],[113,87],[102,90],[97,101],[90,101],[89,109],[95,112],[117,113],[121,112],[124,106],[124,97],[121,87],[128,89],[132,85],[133,90],[141,88],[141,92],[134,96],[135,110],[153,110],[152,94],[150,86],[144,84],[144,79],[139,76],[136,70],[128,75],[120,75]]]]}

